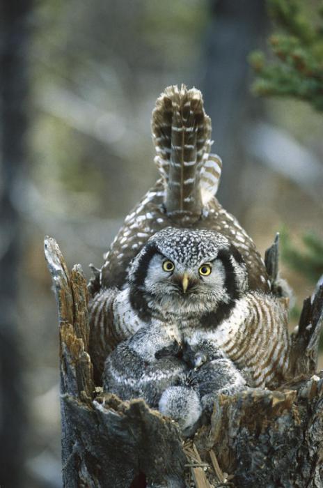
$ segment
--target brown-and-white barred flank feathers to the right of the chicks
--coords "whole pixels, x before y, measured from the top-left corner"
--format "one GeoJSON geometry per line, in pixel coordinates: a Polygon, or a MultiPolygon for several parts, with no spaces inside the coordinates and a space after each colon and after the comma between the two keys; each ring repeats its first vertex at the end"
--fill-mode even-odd
{"type": "MultiPolygon", "coordinates": [[[[205,333],[196,328],[193,342],[201,337],[214,341],[244,371],[250,386],[274,387],[287,378],[290,337],[285,298],[253,291],[239,300],[228,320],[205,333]],[[239,317],[238,317],[239,316],[239,317]]],[[[184,335],[190,335],[186,330],[184,335]]]]}

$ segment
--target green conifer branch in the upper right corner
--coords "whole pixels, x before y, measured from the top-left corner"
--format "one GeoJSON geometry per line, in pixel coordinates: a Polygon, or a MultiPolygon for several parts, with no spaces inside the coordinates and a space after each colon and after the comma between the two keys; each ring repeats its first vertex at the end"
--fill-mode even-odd
{"type": "Polygon", "coordinates": [[[268,0],[276,31],[269,37],[274,61],[260,51],[250,56],[259,96],[293,97],[323,110],[323,8],[316,26],[306,18],[298,0],[268,0]]]}

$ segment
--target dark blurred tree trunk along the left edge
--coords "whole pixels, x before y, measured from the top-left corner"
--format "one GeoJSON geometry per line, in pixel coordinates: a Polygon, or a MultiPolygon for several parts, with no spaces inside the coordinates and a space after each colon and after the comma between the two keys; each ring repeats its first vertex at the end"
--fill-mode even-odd
{"type": "Polygon", "coordinates": [[[0,161],[0,485],[22,486],[26,427],[17,338],[17,275],[22,241],[14,199],[26,163],[26,47],[29,0],[1,2],[0,161]]]}

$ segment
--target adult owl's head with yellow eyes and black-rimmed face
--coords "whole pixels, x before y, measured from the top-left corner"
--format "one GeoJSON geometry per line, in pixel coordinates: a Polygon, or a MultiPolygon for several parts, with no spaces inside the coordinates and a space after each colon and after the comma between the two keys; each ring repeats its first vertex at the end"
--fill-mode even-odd
{"type": "Polygon", "coordinates": [[[129,270],[132,301],[193,312],[229,303],[248,286],[237,248],[216,231],[167,227],[152,236],[129,270]]]}

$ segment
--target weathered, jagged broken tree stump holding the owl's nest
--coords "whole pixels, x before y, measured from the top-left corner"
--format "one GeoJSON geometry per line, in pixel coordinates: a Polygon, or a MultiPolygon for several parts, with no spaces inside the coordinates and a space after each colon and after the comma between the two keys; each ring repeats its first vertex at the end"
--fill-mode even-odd
{"type": "Polygon", "coordinates": [[[88,354],[88,291],[45,240],[58,302],[64,487],[323,487],[323,372],[315,373],[323,287],[292,338],[295,379],[276,391],[221,395],[211,425],[184,440],[141,399],[103,395],[88,354]]]}

